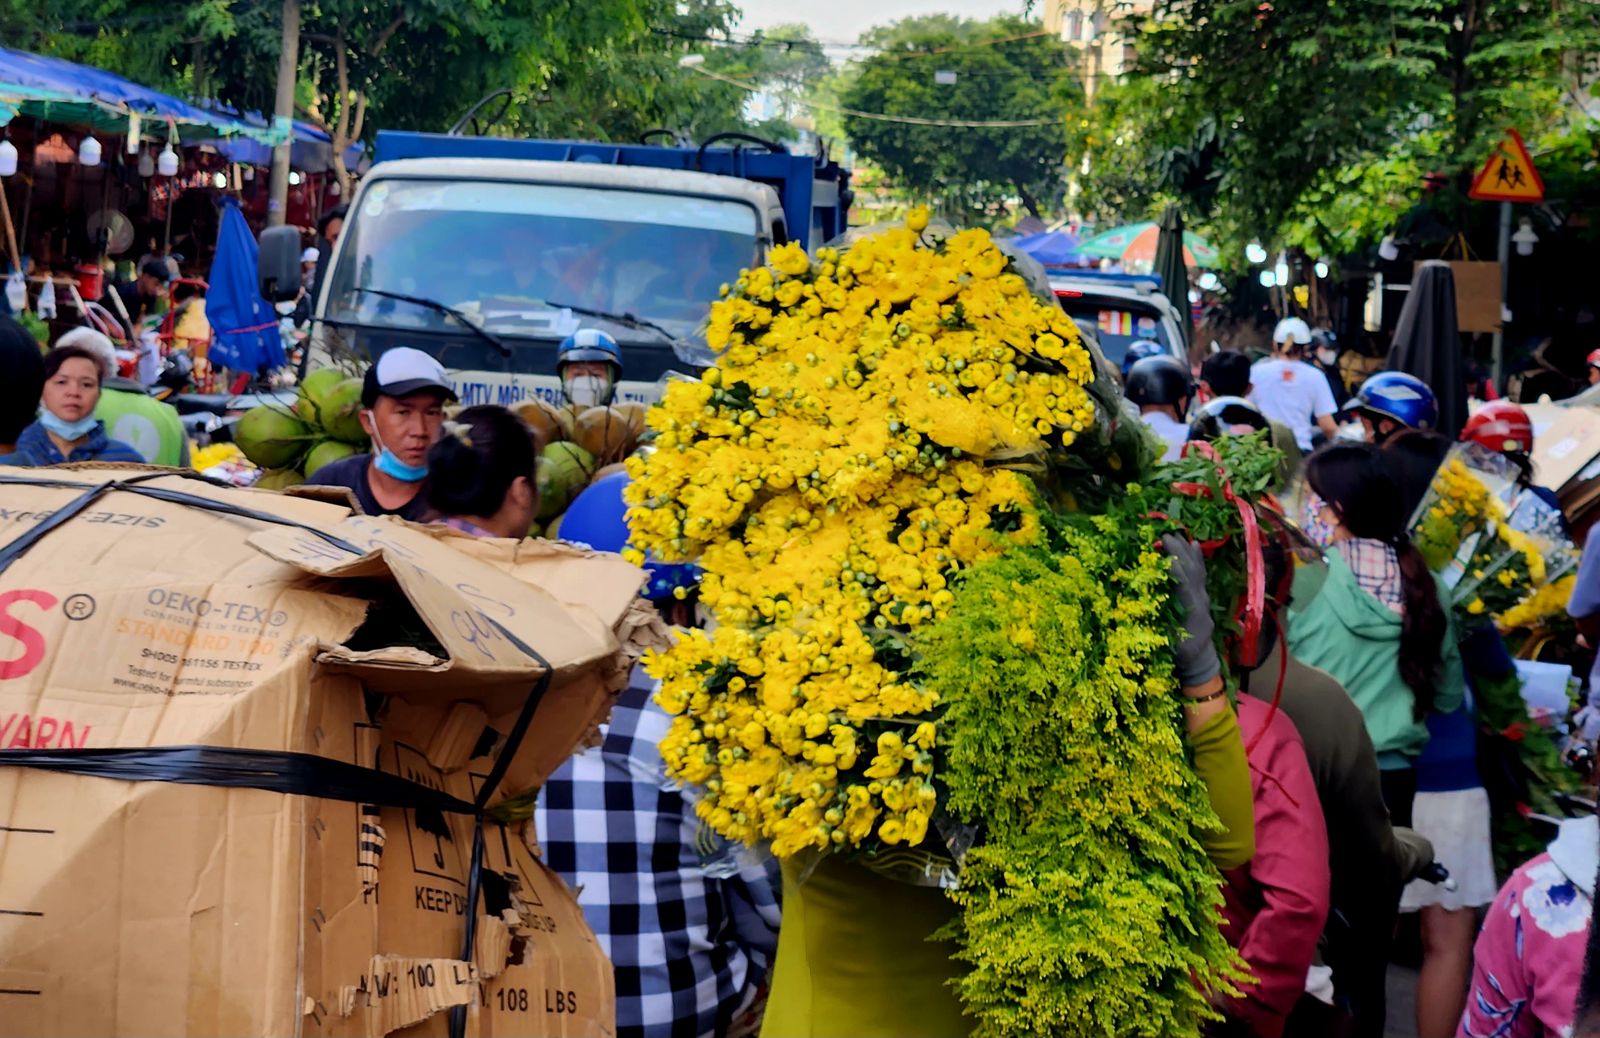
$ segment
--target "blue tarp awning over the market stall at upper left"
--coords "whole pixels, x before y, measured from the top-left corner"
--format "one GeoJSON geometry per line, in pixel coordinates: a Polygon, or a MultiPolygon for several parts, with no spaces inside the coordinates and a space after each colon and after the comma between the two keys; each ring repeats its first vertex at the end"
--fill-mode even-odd
{"type": "Polygon", "coordinates": [[[253,126],[243,120],[206,112],[133,80],[61,58],[0,48],[0,125],[18,115],[58,123],[77,123],[107,133],[128,133],[128,117],[144,120],[144,136],[162,138],[158,123],[171,120],[179,131],[202,130],[208,136],[248,138],[278,144],[286,130],[253,126]]]}

